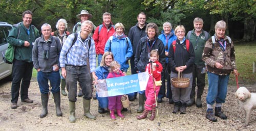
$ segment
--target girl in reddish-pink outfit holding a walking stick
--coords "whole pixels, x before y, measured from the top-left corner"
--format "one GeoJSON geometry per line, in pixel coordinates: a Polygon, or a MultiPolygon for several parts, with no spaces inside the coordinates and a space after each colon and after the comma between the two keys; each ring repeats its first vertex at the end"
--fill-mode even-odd
{"type": "Polygon", "coordinates": [[[159,60],[158,51],[153,49],[150,52],[150,61],[153,63],[150,62],[146,66],[146,71],[148,72],[148,74],[150,74],[150,78],[148,79],[146,90],[145,90],[146,101],[145,101],[144,111],[142,115],[137,116],[137,119],[139,120],[146,118],[149,111],[152,111],[150,120],[154,120],[156,116],[155,90],[156,90],[156,96],[157,96],[161,85],[156,85],[154,82],[161,81],[161,72],[163,70],[161,63],[158,60],[159,60]]]}

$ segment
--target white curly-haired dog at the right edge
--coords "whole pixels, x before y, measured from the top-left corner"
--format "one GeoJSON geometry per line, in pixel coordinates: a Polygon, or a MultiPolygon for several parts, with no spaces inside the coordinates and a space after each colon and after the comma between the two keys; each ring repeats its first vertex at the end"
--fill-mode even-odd
{"type": "Polygon", "coordinates": [[[247,126],[250,121],[251,110],[256,109],[256,93],[250,93],[245,87],[240,87],[235,95],[240,100],[240,107],[245,111],[244,126],[247,126]]]}

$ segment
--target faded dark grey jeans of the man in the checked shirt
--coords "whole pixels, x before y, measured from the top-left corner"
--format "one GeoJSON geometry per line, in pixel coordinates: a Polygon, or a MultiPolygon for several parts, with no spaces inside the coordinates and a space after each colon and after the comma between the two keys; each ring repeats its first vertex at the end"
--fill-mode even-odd
{"type": "Polygon", "coordinates": [[[69,91],[69,101],[76,102],[77,81],[82,89],[84,99],[92,98],[92,79],[87,66],[66,65],[66,85],[69,91]]]}

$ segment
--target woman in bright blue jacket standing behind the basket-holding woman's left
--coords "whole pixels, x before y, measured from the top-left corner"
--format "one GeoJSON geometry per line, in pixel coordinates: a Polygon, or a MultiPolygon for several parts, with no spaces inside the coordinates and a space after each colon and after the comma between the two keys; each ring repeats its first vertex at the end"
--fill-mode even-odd
{"type": "Polygon", "coordinates": [[[163,23],[163,31],[162,34],[158,36],[158,39],[162,40],[164,44],[165,50],[165,68],[163,69],[162,74],[162,86],[160,88],[157,102],[161,103],[163,101],[163,97],[165,97],[165,80],[167,80],[167,93],[166,97],[169,99],[169,104],[174,103],[172,90],[170,89],[170,69],[167,66],[168,64],[168,53],[169,48],[171,47],[173,41],[177,39],[177,36],[174,34],[174,30],[172,29],[172,24],[170,22],[163,23]]]}

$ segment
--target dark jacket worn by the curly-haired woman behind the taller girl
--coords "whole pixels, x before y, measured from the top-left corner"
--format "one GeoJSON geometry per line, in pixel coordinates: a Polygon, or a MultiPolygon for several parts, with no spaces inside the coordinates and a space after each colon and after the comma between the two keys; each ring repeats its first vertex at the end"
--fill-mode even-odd
{"type": "Polygon", "coordinates": [[[146,65],[147,65],[148,61],[150,60],[148,58],[148,50],[151,51],[153,49],[158,49],[159,62],[162,64],[162,66],[164,68],[164,63],[165,63],[164,44],[163,44],[162,40],[158,39],[157,37],[155,37],[155,41],[156,42],[153,44],[153,46],[151,48],[147,44],[147,36],[144,36],[140,39],[139,44],[136,49],[135,60],[134,60],[134,65],[135,65],[136,70],[139,70],[141,72],[145,71],[146,65]]]}

